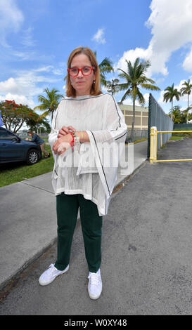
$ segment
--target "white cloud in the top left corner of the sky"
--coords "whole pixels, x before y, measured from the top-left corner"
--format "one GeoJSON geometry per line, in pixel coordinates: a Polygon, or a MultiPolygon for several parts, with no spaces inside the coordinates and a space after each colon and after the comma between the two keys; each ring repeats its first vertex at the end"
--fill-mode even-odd
{"type": "Polygon", "coordinates": [[[17,7],[15,0],[0,1],[0,44],[8,47],[6,36],[12,32],[18,32],[24,17],[22,11],[17,7]]]}

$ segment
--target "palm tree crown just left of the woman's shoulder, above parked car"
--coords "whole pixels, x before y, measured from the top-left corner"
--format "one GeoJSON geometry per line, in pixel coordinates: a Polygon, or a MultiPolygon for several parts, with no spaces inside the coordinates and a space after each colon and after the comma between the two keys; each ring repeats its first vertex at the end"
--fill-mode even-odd
{"type": "Polygon", "coordinates": [[[46,93],[46,96],[44,95],[38,96],[38,100],[39,102],[41,102],[41,104],[37,105],[37,107],[34,107],[34,109],[39,109],[41,111],[46,110],[43,114],[41,114],[41,116],[39,116],[39,119],[45,118],[46,116],[51,114],[51,121],[52,121],[53,112],[58,107],[60,98],[63,98],[63,95],[59,94],[55,88],[52,88],[51,91],[49,91],[49,88],[45,88],[44,93],[46,93]]]}

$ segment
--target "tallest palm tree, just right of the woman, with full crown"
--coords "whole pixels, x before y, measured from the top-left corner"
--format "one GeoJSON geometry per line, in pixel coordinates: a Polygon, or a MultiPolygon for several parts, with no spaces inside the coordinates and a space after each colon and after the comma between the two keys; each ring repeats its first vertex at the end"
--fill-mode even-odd
{"type": "Polygon", "coordinates": [[[122,96],[120,104],[128,97],[131,97],[133,100],[133,119],[132,131],[130,136],[130,140],[132,141],[134,138],[135,101],[138,100],[141,105],[145,103],[145,99],[143,98],[143,95],[139,90],[139,86],[141,86],[141,88],[146,88],[151,91],[159,91],[160,88],[154,85],[155,81],[153,79],[149,79],[145,75],[145,72],[147,71],[148,67],[151,66],[150,61],[140,61],[140,58],[136,58],[134,65],[132,65],[130,61],[125,61],[127,62],[127,72],[121,69],[117,70],[120,70],[122,72],[121,74],[119,74],[119,77],[126,81],[124,84],[119,84],[120,91],[124,89],[126,90],[126,92],[122,96]]]}

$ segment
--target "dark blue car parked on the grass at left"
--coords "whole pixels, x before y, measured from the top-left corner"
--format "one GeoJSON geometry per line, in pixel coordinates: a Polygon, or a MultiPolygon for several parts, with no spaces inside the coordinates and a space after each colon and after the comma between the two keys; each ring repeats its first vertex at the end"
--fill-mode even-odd
{"type": "Polygon", "coordinates": [[[26,161],[36,164],[41,159],[41,148],[36,143],[23,140],[15,133],[0,127],[0,164],[11,161],[26,161]]]}

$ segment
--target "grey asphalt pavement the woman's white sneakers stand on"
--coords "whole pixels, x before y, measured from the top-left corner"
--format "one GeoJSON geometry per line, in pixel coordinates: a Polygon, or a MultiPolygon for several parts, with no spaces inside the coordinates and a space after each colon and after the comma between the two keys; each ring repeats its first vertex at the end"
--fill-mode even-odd
{"type": "MultiPolygon", "coordinates": [[[[169,142],[158,159],[192,158],[192,139],[169,142]]],[[[191,315],[192,163],[148,161],[119,190],[103,218],[103,292],[87,293],[87,263],[78,223],[70,270],[49,286],[39,275],[56,244],[20,274],[0,315],[191,315]]]]}

